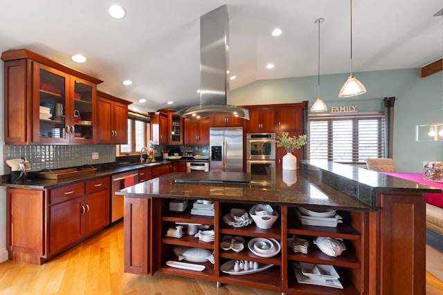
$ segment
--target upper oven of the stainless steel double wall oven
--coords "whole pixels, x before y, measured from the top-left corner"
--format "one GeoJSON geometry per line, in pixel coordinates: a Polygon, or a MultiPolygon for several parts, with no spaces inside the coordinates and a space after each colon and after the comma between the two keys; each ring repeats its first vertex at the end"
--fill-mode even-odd
{"type": "Polygon", "coordinates": [[[246,160],[275,160],[275,133],[246,133],[246,160]]]}

